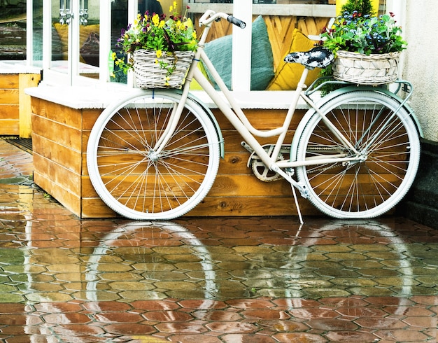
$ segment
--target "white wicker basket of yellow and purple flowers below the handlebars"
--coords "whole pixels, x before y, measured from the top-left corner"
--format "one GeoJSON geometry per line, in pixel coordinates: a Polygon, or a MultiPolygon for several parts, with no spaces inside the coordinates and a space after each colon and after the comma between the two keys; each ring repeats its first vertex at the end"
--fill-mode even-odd
{"type": "MultiPolygon", "coordinates": [[[[134,69],[136,85],[141,88],[181,87],[197,49],[192,21],[174,12],[166,15],[138,15],[118,39],[122,57],[113,52],[115,65],[124,73],[134,69]]],[[[188,9],[188,8],[187,8],[188,9]]]]}

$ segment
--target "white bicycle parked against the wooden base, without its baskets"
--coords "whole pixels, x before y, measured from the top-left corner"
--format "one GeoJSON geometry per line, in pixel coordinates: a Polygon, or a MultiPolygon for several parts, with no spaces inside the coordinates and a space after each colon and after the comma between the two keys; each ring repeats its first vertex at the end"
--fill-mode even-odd
{"type": "MultiPolygon", "coordinates": [[[[87,146],[87,167],[101,199],[132,219],[167,220],[186,214],[209,193],[223,154],[223,138],[213,113],[189,92],[193,78],[243,138],[248,165],[263,181],[286,179],[320,211],[335,218],[372,218],[393,208],[409,190],[420,158],[421,129],[407,104],[411,84],[388,87],[342,83],[313,102],[320,86],[304,91],[304,69],[281,127],[257,130],[227,90],[204,52],[211,24],[225,18],[211,10],[182,90],[133,90],[105,109],[87,146]],[[225,99],[197,68],[209,69],[225,99]],[[404,90],[402,99],[397,92],[404,90]],[[291,144],[286,132],[299,97],[309,105],[291,144]],[[276,137],[262,145],[257,137],[276,137]]],[[[321,66],[330,61],[321,60],[321,66]]],[[[302,221],[297,204],[300,221],[302,221]]]]}

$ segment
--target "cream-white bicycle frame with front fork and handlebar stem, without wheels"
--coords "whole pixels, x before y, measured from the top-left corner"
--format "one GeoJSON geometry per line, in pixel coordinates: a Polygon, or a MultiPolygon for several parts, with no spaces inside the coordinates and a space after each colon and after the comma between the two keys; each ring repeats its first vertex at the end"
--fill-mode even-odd
{"type": "MultiPolygon", "coordinates": [[[[218,109],[222,111],[224,116],[229,120],[229,122],[233,125],[233,127],[236,129],[237,132],[241,135],[244,141],[250,146],[251,149],[257,154],[257,156],[262,160],[264,165],[266,165],[269,169],[271,169],[273,172],[276,172],[280,174],[284,179],[288,180],[288,182],[297,188],[299,192],[302,194],[303,197],[308,197],[307,191],[304,188],[303,185],[299,184],[297,181],[292,179],[292,173],[290,171],[286,172],[288,169],[293,169],[295,167],[300,166],[309,166],[309,165],[321,165],[328,162],[360,162],[361,157],[358,153],[358,151],[355,149],[354,146],[351,145],[351,143],[344,137],[339,130],[337,130],[336,127],[330,122],[330,120],[327,120],[323,113],[318,109],[316,104],[312,101],[310,97],[308,97],[305,92],[304,88],[306,87],[305,81],[306,77],[309,73],[309,69],[304,69],[302,76],[299,80],[297,90],[293,92],[292,101],[290,102],[290,106],[288,109],[288,112],[286,114],[285,120],[283,122],[283,125],[281,127],[276,127],[271,130],[257,130],[253,125],[251,125],[250,121],[246,117],[245,113],[237,104],[236,99],[234,99],[234,96],[230,90],[228,90],[227,86],[223,82],[222,78],[220,77],[218,71],[216,71],[215,67],[211,63],[209,57],[204,52],[204,46],[206,37],[208,36],[209,29],[211,27],[211,23],[216,20],[216,18],[225,18],[225,13],[214,13],[211,11],[211,13],[207,12],[204,14],[205,18],[208,18],[209,15],[213,15],[209,18],[209,20],[206,20],[206,23],[204,24],[205,29],[202,33],[201,38],[199,39],[198,43],[198,49],[195,52],[195,58],[190,66],[190,69],[188,71],[188,75],[186,76],[185,85],[183,87],[183,94],[180,104],[176,106],[174,109],[174,113],[172,113],[171,117],[171,125],[167,127],[166,134],[163,135],[163,139],[157,142],[157,145],[155,146],[155,150],[157,153],[160,153],[162,149],[164,149],[165,144],[170,139],[171,134],[176,129],[176,123],[178,123],[178,118],[181,115],[181,111],[183,110],[185,100],[189,96],[190,91],[190,83],[193,78],[197,80],[199,85],[201,85],[202,89],[206,92],[206,94],[211,97],[213,102],[218,106],[218,109]],[[209,69],[211,76],[213,76],[213,79],[216,81],[217,85],[220,88],[220,91],[225,96],[226,101],[222,99],[220,96],[220,93],[214,89],[214,87],[211,85],[209,80],[206,79],[206,77],[202,74],[202,72],[197,68],[197,64],[202,60],[204,65],[207,69],[209,69]],[[283,146],[283,143],[285,141],[286,134],[288,132],[288,128],[290,126],[290,123],[292,122],[293,115],[295,113],[295,110],[297,109],[297,104],[299,101],[299,98],[304,99],[306,104],[308,104],[313,110],[318,113],[327,127],[330,128],[330,130],[337,136],[339,141],[341,141],[346,148],[348,148],[349,151],[353,151],[355,155],[349,155],[346,154],[337,154],[337,155],[331,155],[330,158],[309,158],[306,160],[301,161],[294,161],[294,160],[282,160],[278,161],[277,157],[281,151],[281,147],[283,146]],[[269,155],[266,151],[264,151],[263,146],[257,141],[256,137],[276,137],[276,143],[274,144],[274,150],[272,151],[271,155],[269,155]]],[[[202,18],[200,22],[202,21],[202,18]]],[[[293,188],[292,188],[293,190],[293,188]]]]}

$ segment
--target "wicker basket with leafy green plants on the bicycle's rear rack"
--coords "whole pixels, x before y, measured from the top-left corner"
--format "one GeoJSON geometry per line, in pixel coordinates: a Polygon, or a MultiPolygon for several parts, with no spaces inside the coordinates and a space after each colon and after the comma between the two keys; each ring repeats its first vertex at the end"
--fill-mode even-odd
{"type": "Polygon", "coordinates": [[[332,65],[334,78],[365,85],[393,82],[400,52],[407,47],[401,32],[393,13],[344,12],[321,34],[322,45],[337,57],[332,65]]]}

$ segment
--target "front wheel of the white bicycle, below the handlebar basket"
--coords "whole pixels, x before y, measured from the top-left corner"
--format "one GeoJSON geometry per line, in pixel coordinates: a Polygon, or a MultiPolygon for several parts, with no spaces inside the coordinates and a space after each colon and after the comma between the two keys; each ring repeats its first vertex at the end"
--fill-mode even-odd
{"type": "Polygon", "coordinates": [[[172,219],[207,195],[218,173],[220,141],[209,115],[185,103],[162,151],[157,141],[170,125],[180,94],[143,91],[105,109],[87,146],[90,180],[101,200],[132,219],[172,219]]]}

